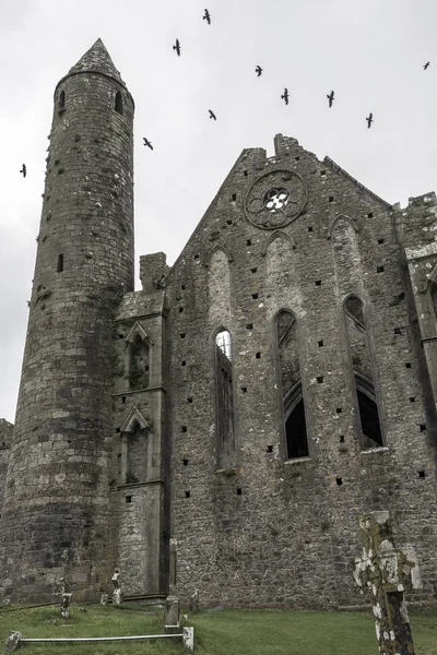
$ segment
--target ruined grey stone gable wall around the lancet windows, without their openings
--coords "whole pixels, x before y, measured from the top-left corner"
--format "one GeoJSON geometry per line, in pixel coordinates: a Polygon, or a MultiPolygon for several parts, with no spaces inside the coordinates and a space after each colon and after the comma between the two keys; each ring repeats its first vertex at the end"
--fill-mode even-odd
{"type": "Polygon", "coordinates": [[[172,536],[178,540],[184,599],[199,588],[205,605],[362,603],[352,580],[361,550],[357,517],[378,509],[393,514],[400,543],[415,546],[425,593],[432,593],[433,457],[421,428],[423,391],[402,296],[408,288],[401,254],[391,207],[330,160],[318,162],[281,136],[275,157],[252,150],[238,159],[167,283],[172,536]],[[248,222],[244,203],[258,178],[283,169],[305,180],[308,203],[272,240],[273,230],[248,222]],[[330,238],[340,214],[357,228],[356,248],[341,275],[330,238]],[[216,243],[231,255],[228,327],[240,443],[239,466],[225,472],[216,471],[212,334],[220,325],[211,311],[216,299],[208,266],[216,243]],[[341,303],[353,291],[366,305],[378,371],[387,448],[376,451],[362,452],[351,386],[341,303]],[[310,436],[310,457],[299,461],[281,454],[273,320],[282,308],[298,319],[310,436]],[[426,472],[424,478],[418,471],[426,472]]]}

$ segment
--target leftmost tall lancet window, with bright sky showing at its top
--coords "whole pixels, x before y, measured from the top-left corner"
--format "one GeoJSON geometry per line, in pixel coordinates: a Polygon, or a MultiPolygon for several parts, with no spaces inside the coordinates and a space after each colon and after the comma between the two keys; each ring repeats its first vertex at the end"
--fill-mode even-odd
{"type": "Polygon", "coordinates": [[[236,465],[234,381],[232,340],[228,330],[221,329],[214,338],[215,426],[218,468],[236,465]]]}

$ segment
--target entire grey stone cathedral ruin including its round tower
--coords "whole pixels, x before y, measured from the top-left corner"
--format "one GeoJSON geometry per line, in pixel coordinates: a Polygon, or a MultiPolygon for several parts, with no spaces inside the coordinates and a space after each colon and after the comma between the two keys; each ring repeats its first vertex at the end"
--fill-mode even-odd
{"type": "Polygon", "coordinates": [[[277,134],[244,150],[173,266],[133,282],[133,100],[97,40],[55,91],[0,599],[168,594],[357,605],[390,512],[437,595],[437,201],[390,205],[277,134]],[[63,558],[63,559],[62,559],[63,558]],[[67,574],[66,574],[67,575],[67,574]]]}

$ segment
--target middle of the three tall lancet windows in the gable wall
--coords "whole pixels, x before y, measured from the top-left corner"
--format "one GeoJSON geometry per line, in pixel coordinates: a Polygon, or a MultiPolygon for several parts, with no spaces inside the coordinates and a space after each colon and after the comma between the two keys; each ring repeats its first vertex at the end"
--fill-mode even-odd
{"type": "Polygon", "coordinates": [[[308,432],[300,380],[296,317],[287,310],[275,320],[277,369],[284,421],[284,452],[287,460],[308,457],[308,432]]]}

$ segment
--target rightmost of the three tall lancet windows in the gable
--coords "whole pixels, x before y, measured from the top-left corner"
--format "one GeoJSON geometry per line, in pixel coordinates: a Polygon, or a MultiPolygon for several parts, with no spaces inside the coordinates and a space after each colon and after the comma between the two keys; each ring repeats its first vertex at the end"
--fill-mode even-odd
{"type": "Polygon", "coordinates": [[[358,296],[344,302],[350,357],[353,368],[354,394],[359,416],[364,449],[383,445],[381,420],[375,390],[373,357],[368,342],[364,305],[358,296]]]}

